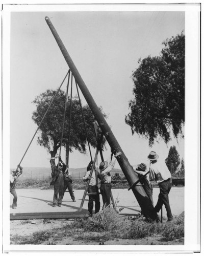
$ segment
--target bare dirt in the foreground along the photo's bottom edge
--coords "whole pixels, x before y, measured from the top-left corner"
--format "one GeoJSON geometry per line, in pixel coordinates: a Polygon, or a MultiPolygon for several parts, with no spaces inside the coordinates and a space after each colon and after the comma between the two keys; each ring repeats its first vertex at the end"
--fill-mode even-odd
{"type": "MultiPolygon", "coordinates": [[[[60,220],[15,220],[10,223],[11,244],[12,238],[15,236],[28,237],[35,232],[43,232],[53,228],[61,229],[63,225],[71,223],[72,221],[66,219],[60,220]]],[[[86,232],[87,239],[91,236],[97,236],[96,232],[86,232]]],[[[87,241],[79,240],[76,237],[70,236],[64,239],[58,238],[58,234],[52,238],[42,241],[40,244],[44,245],[181,245],[184,244],[184,238],[173,241],[162,241],[159,235],[145,237],[142,239],[114,239],[109,241],[87,241]]]]}

